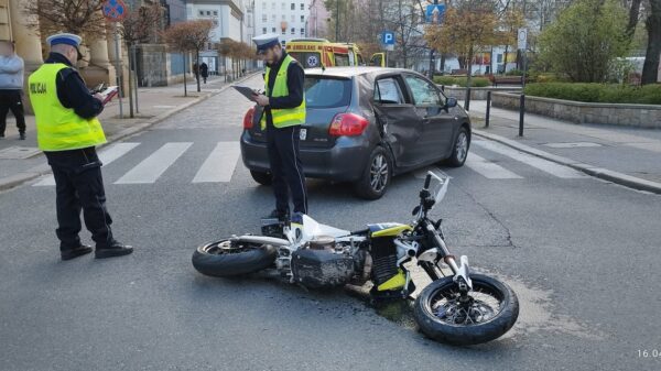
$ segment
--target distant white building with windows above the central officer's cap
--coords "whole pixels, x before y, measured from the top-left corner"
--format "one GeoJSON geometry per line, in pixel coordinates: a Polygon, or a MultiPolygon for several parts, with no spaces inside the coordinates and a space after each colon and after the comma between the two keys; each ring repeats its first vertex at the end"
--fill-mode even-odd
{"type": "Polygon", "coordinates": [[[256,0],[254,34],[278,33],[283,44],[307,37],[311,3],[312,0],[256,0]]]}

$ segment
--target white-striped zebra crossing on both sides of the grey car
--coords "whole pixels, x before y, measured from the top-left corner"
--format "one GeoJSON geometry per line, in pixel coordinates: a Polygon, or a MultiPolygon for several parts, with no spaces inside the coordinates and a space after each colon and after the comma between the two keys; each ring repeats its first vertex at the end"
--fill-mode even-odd
{"type": "MultiPolygon", "coordinates": [[[[127,153],[133,151],[141,143],[133,142],[121,142],[109,145],[106,149],[99,151],[99,160],[104,165],[109,165],[115,161],[121,159],[127,153]]],[[[509,146],[500,143],[494,143],[490,141],[475,140],[473,141],[475,146],[481,150],[494,152],[525,165],[535,167],[546,174],[550,174],[559,178],[582,178],[585,175],[554,162],[543,160],[533,155],[522,153],[520,151],[510,149],[509,146]]],[[[160,146],[155,152],[151,153],[148,157],[143,159],[140,163],[129,170],[123,176],[115,182],[115,184],[128,185],[128,184],[153,184],[155,183],[169,168],[171,168],[176,161],[186,153],[193,146],[192,142],[170,142],[160,146]]],[[[237,163],[241,156],[239,143],[234,142],[218,142],[212,152],[207,155],[205,161],[202,163],[197,173],[191,181],[193,184],[205,184],[205,183],[229,183],[236,171],[237,163]]],[[[484,159],[477,155],[474,151],[468,153],[466,159],[466,167],[480,174],[481,176],[489,179],[522,179],[523,177],[512,171],[509,171],[492,161],[484,159]]],[[[427,171],[433,171],[440,174],[442,177],[449,177],[443,171],[436,166],[416,171],[413,173],[415,177],[424,177],[427,171]]],[[[33,184],[35,187],[54,186],[55,179],[53,175],[46,175],[41,177],[36,183],[33,184]]]]}

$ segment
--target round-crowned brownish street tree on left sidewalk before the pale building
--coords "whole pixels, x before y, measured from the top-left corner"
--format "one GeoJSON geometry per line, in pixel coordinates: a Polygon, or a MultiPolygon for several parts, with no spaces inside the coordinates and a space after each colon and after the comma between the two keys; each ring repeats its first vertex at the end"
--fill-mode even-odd
{"type": "MultiPolygon", "coordinates": [[[[184,95],[186,89],[186,54],[195,53],[196,61],[199,61],[199,52],[205,48],[209,42],[209,35],[214,29],[214,22],[209,20],[186,21],[172,25],[163,32],[165,43],[175,51],[184,54],[184,95]]],[[[201,91],[199,79],[197,79],[197,91],[201,91]]]]}

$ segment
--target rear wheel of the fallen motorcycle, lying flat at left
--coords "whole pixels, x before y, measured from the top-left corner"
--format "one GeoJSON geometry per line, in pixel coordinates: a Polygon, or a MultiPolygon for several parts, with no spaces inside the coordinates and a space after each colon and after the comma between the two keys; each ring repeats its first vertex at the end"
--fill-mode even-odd
{"type": "Polygon", "coordinates": [[[275,255],[275,248],[270,244],[220,240],[198,247],[192,260],[202,274],[228,277],[267,269],[275,255]]]}

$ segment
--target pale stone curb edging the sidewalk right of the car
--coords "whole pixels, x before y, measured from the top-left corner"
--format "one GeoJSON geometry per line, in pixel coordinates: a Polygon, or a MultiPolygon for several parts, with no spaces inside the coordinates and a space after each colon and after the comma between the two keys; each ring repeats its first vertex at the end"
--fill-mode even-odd
{"type": "Polygon", "coordinates": [[[571,160],[567,157],[551,154],[551,153],[534,149],[532,146],[518,143],[518,142],[507,139],[505,137],[487,133],[481,130],[474,129],[473,133],[478,137],[481,137],[484,139],[499,142],[499,143],[510,146],[514,150],[519,150],[521,152],[525,152],[528,154],[532,154],[538,157],[572,167],[572,168],[583,172],[589,176],[594,176],[594,177],[597,177],[597,178],[600,178],[604,181],[613,182],[613,183],[616,183],[616,184],[619,184],[619,185],[622,185],[622,186],[626,186],[629,188],[633,188],[633,189],[638,189],[638,190],[646,190],[646,192],[661,195],[661,183],[642,179],[642,178],[639,178],[636,176],[618,173],[618,172],[615,172],[615,171],[611,171],[608,168],[597,167],[597,166],[585,164],[585,163],[574,161],[574,160],[571,160]]]}

